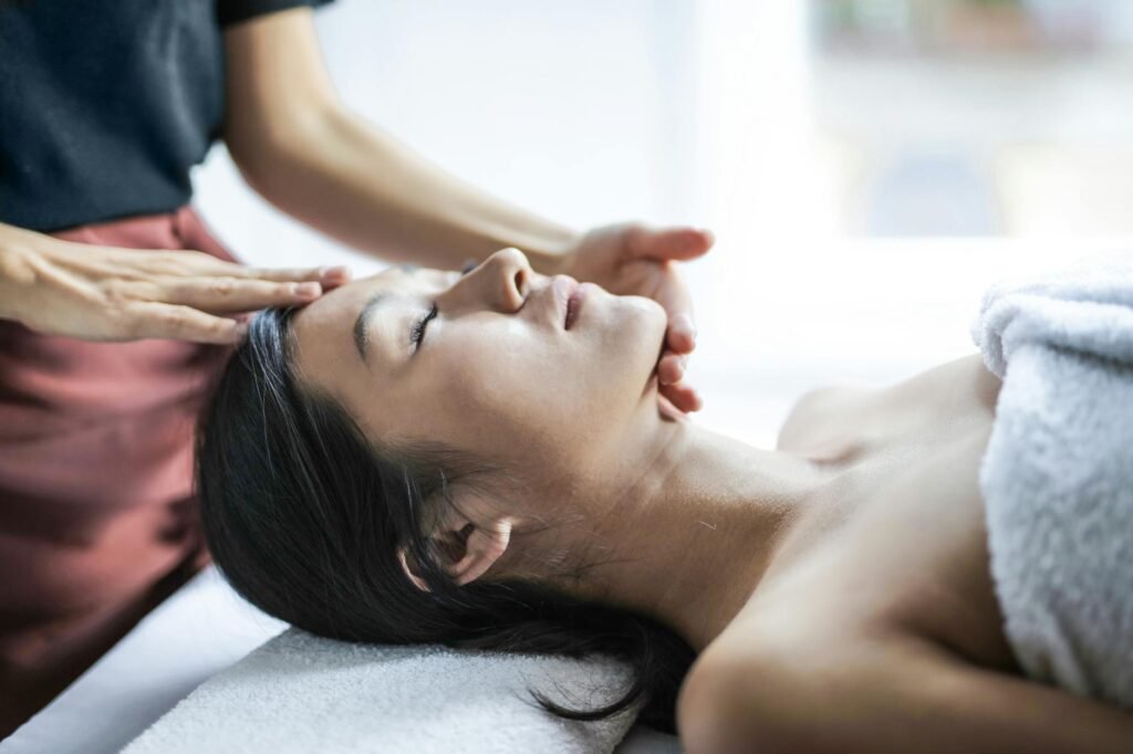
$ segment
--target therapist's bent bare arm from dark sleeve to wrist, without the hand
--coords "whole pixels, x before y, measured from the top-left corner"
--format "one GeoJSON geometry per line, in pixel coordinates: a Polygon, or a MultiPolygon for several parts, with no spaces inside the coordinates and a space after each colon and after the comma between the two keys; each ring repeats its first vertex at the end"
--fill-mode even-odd
{"type": "MultiPolygon", "coordinates": [[[[224,140],[283,212],[361,251],[459,267],[518,247],[544,273],[581,234],[496,199],[421,157],[338,98],[307,8],[225,32],[224,140]]],[[[460,113],[452,113],[459,128],[460,113]]]]}

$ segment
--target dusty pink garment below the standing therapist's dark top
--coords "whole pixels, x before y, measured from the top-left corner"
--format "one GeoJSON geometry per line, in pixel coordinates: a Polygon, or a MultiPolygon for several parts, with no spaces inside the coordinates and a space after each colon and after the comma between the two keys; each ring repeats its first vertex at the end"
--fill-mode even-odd
{"type": "MultiPolygon", "coordinates": [[[[233,260],[188,206],[53,235],[233,260]]],[[[0,320],[0,737],[208,562],[193,431],[229,353],[0,320]]]]}

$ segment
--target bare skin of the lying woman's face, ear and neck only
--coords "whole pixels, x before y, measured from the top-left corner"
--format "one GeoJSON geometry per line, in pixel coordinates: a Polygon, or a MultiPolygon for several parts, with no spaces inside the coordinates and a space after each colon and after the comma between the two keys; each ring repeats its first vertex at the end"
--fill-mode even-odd
{"type": "Polygon", "coordinates": [[[463,277],[391,269],[346,285],[296,317],[300,380],[377,446],[441,442],[502,470],[491,495],[458,488],[461,515],[434,533],[458,580],[542,576],[553,551],[612,560],[560,585],[658,616],[702,649],[827,473],[664,412],[661,307],[593,286],[565,331],[554,284],[508,249],[463,277]],[[364,363],[356,317],[391,290],[404,295],[372,314],[364,363]],[[432,301],[438,316],[414,352],[432,301]]]}

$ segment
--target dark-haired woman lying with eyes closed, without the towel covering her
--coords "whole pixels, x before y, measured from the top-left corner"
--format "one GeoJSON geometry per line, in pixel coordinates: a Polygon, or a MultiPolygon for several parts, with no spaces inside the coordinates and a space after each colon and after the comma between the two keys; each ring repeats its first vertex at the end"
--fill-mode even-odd
{"type": "Polygon", "coordinates": [[[198,448],[216,564],[315,634],[620,658],[615,704],[539,702],[689,754],[1133,751],[1004,633],[980,355],[808,393],[766,451],[658,411],[664,331],[516,249],[262,312],[198,448]]]}

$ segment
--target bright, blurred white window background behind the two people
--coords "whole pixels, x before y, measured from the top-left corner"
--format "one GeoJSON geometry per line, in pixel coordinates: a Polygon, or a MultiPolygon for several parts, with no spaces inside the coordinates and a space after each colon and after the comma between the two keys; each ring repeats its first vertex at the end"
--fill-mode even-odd
{"type": "MultiPolygon", "coordinates": [[[[342,97],[553,220],[707,226],[697,417],[773,447],[794,400],[976,352],[994,280],[1133,240],[1128,0],[339,0],[342,97]]],[[[253,264],[382,265],[223,147],[197,204],[253,264]]]]}

